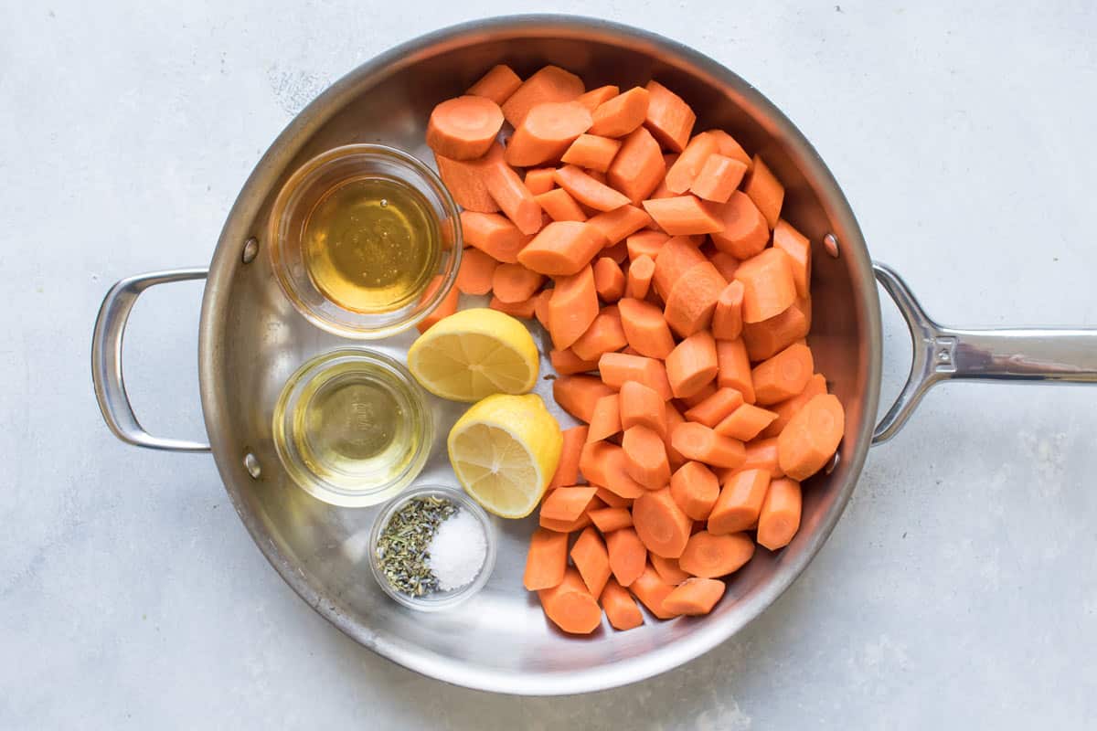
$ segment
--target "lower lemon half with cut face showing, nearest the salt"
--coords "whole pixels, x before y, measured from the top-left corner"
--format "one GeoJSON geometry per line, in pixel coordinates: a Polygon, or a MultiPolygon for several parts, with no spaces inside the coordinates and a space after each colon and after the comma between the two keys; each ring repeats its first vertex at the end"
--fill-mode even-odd
{"type": "Polygon", "coordinates": [[[465,492],[499,517],[533,512],[563,445],[559,424],[535,393],[487,397],[457,420],[446,441],[465,492]]]}

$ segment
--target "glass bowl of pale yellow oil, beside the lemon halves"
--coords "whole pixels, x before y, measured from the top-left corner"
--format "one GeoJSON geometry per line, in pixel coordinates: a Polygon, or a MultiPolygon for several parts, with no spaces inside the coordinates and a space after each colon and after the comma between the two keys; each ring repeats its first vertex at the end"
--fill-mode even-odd
{"type": "Polygon", "coordinates": [[[321,353],[286,381],[274,406],[274,447],[318,500],[382,503],[422,471],[434,425],[422,390],[395,359],[365,347],[321,353]]]}

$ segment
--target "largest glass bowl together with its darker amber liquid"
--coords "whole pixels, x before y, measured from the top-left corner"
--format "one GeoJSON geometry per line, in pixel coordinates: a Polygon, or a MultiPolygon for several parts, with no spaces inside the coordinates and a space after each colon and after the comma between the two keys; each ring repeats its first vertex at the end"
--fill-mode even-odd
{"type": "Polygon", "coordinates": [[[383,145],[347,145],[299,169],[270,217],[274,276],[314,324],[393,335],[427,317],[461,265],[460,213],[433,170],[383,145]]]}

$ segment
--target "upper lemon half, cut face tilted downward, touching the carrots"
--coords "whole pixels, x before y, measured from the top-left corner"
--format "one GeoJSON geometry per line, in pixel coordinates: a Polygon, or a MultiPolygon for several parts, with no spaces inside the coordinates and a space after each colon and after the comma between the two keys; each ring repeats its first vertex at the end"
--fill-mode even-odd
{"type": "Polygon", "coordinates": [[[479,401],[491,393],[525,393],[538,380],[538,346],[521,322],[486,308],[436,322],[408,351],[408,368],[434,396],[479,401]]]}

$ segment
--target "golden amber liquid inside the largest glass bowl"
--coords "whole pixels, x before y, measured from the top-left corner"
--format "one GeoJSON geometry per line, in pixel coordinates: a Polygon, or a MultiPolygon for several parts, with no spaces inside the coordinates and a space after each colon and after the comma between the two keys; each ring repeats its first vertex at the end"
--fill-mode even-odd
{"type": "Polygon", "coordinates": [[[392,178],[343,181],[305,221],[308,276],[325,297],[355,312],[391,312],[417,301],[441,249],[427,198],[392,178]]]}

